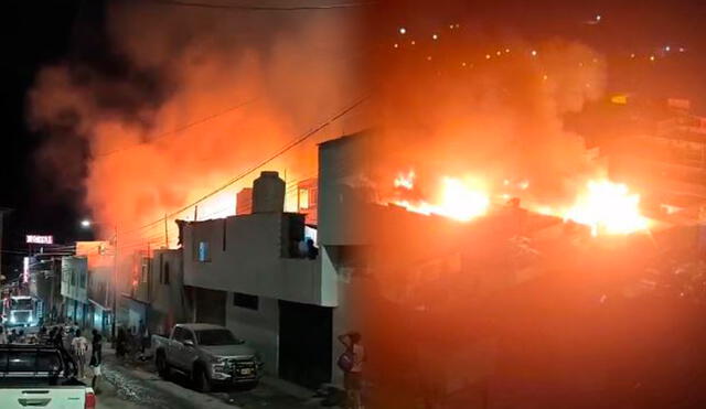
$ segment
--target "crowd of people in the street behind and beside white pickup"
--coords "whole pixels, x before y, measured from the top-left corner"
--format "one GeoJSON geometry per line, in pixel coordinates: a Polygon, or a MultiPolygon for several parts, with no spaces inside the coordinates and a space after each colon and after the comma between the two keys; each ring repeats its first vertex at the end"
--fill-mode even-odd
{"type": "Polygon", "coordinates": [[[86,377],[86,365],[93,368],[93,385],[96,386],[100,376],[100,364],[103,363],[103,336],[97,330],[93,330],[92,340],[82,334],[81,330],[73,326],[53,326],[46,330],[40,327],[36,334],[25,335],[23,330],[12,329],[9,333],[0,326],[0,344],[49,344],[69,354],[76,363],[76,372],[79,378],[86,377]]]}

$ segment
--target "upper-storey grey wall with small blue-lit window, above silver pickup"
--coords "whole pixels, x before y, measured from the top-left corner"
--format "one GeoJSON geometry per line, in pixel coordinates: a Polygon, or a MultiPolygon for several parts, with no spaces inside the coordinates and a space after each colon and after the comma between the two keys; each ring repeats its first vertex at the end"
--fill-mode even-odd
{"type": "Polygon", "coordinates": [[[186,224],[184,284],[321,304],[320,260],[282,257],[292,216],[301,217],[258,213],[186,224]],[[200,243],[207,243],[208,261],[197,260],[200,243]]]}

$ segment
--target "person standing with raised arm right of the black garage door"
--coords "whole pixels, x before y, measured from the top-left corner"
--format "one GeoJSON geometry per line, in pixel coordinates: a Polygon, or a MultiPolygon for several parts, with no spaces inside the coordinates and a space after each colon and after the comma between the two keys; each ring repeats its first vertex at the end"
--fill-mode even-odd
{"type": "Polygon", "coordinates": [[[363,389],[363,362],[365,349],[361,343],[362,336],[357,332],[339,335],[339,342],[345,346],[345,352],[339,358],[339,366],[343,369],[343,386],[347,397],[349,408],[363,407],[361,390],[363,389]],[[343,363],[342,360],[347,360],[343,363]]]}

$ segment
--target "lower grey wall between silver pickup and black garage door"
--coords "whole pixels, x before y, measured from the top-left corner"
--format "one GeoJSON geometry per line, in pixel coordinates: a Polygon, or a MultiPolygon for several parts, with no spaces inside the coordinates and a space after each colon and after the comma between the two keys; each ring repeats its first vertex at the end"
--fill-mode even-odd
{"type": "Polygon", "coordinates": [[[278,373],[279,349],[279,306],[277,300],[259,298],[258,309],[250,310],[233,304],[233,293],[228,293],[226,305],[226,326],[235,336],[245,340],[255,347],[265,362],[265,370],[270,375],[278,373]]]}

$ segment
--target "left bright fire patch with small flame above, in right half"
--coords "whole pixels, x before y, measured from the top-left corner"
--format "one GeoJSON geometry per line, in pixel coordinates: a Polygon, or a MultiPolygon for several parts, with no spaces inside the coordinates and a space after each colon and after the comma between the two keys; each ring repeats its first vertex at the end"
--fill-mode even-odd
{"type": "MultiPolygon", "coordinates": [[[[399,175],[395,180],[395,187],[413,190],[414,176],[414,172],[399,175]]],[[[413,203],[405,200],[394,203],[407,208],[409,212],[426,215],[435,214],[460,222],[469,222],[488,213],[490,196],[473,181],[442,177],[437,203],[428,203],[426,201],[413,203]]]]}

